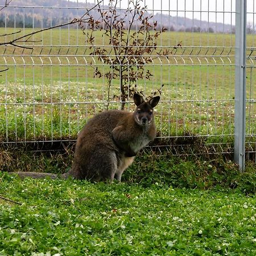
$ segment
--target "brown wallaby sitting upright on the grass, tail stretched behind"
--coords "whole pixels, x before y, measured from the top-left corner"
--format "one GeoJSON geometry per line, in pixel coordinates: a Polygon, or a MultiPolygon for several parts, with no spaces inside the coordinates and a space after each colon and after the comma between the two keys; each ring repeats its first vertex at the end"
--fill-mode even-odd
{"type": "MultiPolygon", "coordinates": [[[[156,136],[154,107],[159,96],[148,101],[135,93],[135,111],[109,110],[95,115],[80,131],[71,170],[62,175],[91,181],[121,181],[123,171],[139,150],[156,136]]],[[[20,177],[56,178],[54,174],[18,172],[20,177]]]]}

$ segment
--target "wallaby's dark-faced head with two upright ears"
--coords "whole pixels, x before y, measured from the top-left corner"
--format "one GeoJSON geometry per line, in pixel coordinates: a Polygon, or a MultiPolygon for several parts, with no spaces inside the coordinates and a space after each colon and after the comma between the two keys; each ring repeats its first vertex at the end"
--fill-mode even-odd
{"type": "Polygon", "coordinates": [[[134,112],[134,119],[141,126],[147,126],[153,120],[153,112],[156,105],[160,100],[159,96],[153,97],[148,101],[144,99],[137,93],[134,93],[133,100],[137,106],[134,112]]]}

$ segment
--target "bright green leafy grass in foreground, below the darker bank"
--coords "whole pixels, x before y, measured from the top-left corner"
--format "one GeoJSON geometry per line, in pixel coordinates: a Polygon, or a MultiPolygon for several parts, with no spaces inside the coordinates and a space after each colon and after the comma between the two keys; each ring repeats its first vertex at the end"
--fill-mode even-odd
{"type": "Polygon", "coordinates": [[[255,196],[1,175],[0,255],[255,255],[255,196]]]}

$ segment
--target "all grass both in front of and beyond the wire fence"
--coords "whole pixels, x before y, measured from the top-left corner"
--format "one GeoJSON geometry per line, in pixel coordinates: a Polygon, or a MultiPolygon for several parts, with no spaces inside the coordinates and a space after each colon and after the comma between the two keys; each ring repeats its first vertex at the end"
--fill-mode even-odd
{"type": "MultiPolygon", "coordinates": [[[[0,76],[0,141],[76,139],[86,120],[106,108],[106,77],[93,77],[92,66],[100,63],[93,64],[76,30],[48,31],[33,39],[42,40],[33,50],[1,48],[13,66],[0,76]]],[[[253,46],[253,36],[247,39],[253,46]]],[[[96,44],[102,40],[97,32],[96,44]]],[[[71,167],[71,144],[60,152],[48,151],[46,144],[39,152],[1,147],[0,196],[16,202],[0,199],[1,256],[256,254],[255,163],[247,162],[241,174],[232,154],[215,158],[204,144],[233,142],[234,35],[166,32],[158,43],[173,49],[179,42],[183,48],[152,61],[145,67],[151,80],[137,85],[150,94],[164,84],[156,108],[159,136],[213,135],[190,141],[204,154],[185,158],[173,156],[171,147],[170,152],[145,150],[125,171],[123,183],[92,184],[22,181],[6,173],[61,174],[71,167]]],[[[249,74],[253,84],[254,73],[249,74]]],[[[118,84],[113,81],[110,108],[119,108],[118,84]]],[[[255,97],[253,87],[247,96],[255,97]]],[[[254,116],[253,104],[247,104],[252,133],[254,116]]]]}

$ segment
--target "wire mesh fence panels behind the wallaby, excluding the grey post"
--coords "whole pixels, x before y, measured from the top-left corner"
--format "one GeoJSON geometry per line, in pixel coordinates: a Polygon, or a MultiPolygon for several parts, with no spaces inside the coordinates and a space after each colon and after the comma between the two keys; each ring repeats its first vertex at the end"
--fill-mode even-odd
{"type": "MultiPolygon", "coordinates": [[[[161,94],[158,148],[190,154],[200,142],[210,147],[201,153],[233,152],[236,1],[7,2],[2,143],[75,141],[95,113],[122,101],[133,109],[136,90],[161,94]]],[[[255,153],[254,1],[247,6],[246,151],[255,153]]]]}

